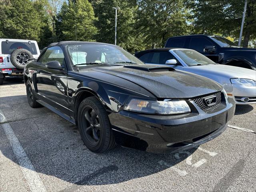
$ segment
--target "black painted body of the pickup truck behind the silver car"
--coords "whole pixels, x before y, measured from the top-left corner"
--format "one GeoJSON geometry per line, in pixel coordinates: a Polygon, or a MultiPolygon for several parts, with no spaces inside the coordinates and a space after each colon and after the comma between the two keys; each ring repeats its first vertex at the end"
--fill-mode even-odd
{"type": "MultiPolygon", "coordinates": [[[[230,64],[232,63],[243,63],[244,67],[256,70],[256,49],[254,48],[240,48],[240,47],[221,47],[214,40],[212,40],[209,35],[187,35],[187,36],[176,36],[168,38],[165,47],[174,47],[170,43],[170,40],[178,38],[186,38],[184,46],[175,46],[175,48],[189,48],[191,38],[206,38],[209,40],[216,48],[215,52],[204,52],[203,50],[196,50],[203,54],[204,56],[210,58],[212,61],[219,64],[230,64]]],[[[234,64],[236,66],[236,64],[234,64]]],[[[242,65],[243,66],[243,65],[242,65]]]]}

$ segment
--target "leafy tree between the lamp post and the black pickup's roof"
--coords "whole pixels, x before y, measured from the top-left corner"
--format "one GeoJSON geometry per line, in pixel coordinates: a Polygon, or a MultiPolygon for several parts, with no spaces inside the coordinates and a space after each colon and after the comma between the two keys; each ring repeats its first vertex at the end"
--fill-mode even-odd
{"type": "Polygon", "coordinates": [[[138,0],[138,5],[137,30],[143,31],[152,48],[164,46],[168,37],[190,33],[183,0],[138,0]]]}

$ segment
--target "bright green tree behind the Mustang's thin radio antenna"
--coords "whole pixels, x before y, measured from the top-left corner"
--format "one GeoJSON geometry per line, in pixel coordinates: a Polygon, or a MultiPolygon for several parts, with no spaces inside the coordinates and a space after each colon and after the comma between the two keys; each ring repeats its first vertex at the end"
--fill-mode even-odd
{"type": "Polygon", "coordinates": [[[95,20],[94,10],[88,0],[76,0],[75,6],[73,0],[68,0],[68,3],[64,1],[57,15],[56,33],[60,40],[76,40],[77,34],[78,41],[94,41],[97,33],[95,20]]]}

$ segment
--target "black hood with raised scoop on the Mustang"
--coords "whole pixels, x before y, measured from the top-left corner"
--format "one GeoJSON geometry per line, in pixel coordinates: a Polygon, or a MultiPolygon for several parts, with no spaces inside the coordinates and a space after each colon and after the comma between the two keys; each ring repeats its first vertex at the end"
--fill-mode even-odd
{"type": "Polygon", "coordinates": [[[157,98],[192,98],[222,90],[220,84],[208,78],[160,65],[112,66],[92,70],[133,82],[157,98]]]}

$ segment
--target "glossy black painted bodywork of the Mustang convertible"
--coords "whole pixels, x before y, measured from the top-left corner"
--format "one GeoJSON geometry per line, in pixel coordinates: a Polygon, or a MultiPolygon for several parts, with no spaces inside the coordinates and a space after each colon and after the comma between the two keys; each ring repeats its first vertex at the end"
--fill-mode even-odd
{"type": "Polygon", "coordinates": [[[75,42],[54,44],[64,52],[66,66],[63,70],[48,69],[32,61],[24,69],[25,82],[30,81],[40,104],[73,124],[76,124],[82,99],[96,96],[108,112],[116,142],[122,146],[159,153],[190,148],[221,134],[234,115],[234,100],[226,100],[223,93],[221,104],[207,111],[190,100],[222,90],[221,85],[208,78],[159,65],[73,69],[66,53],[68,44],[75,42]],[[152,68],[167,71],[149,72],[152,68]],[[58,86],[56,82],[59,82],[58,86]],[[192,111],[177,115],[149,115],[123,110],[130,98],[182,98],[187,100],[192,111]]]}

